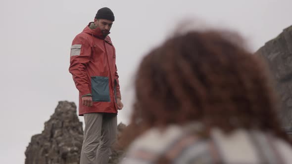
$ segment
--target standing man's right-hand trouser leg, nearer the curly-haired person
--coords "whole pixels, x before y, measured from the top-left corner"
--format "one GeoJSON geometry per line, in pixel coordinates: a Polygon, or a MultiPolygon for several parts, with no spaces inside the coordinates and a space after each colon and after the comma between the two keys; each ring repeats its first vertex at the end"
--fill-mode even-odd
{"type": "Polygon", "coordinates": [[[97,149],[97,164],[108,164],[111,155],[110,148],[116,141],[117,136],[117,115],[103,114],[101,138],[97,149]]]}

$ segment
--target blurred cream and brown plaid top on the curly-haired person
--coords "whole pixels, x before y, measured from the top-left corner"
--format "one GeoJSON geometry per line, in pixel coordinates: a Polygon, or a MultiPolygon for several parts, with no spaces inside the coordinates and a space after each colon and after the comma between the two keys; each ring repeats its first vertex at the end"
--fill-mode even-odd
{"type": "Polygon", "coordinates": [[[213,129],[199,137],[197,123],[151,129],[130,146],[121,164],[291,164],[292,147],[271,134],[213,129]]]}

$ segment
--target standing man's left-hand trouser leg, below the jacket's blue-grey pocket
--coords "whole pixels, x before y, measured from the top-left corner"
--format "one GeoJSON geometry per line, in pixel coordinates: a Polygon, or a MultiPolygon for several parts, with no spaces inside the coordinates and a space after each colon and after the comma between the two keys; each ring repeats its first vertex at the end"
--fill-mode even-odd
{"type": "Polygon", "coordinates": [[[102,113],[84,114],[84,139],[80,164],[96,164],[97,147],[101,136],[102,113]]]}

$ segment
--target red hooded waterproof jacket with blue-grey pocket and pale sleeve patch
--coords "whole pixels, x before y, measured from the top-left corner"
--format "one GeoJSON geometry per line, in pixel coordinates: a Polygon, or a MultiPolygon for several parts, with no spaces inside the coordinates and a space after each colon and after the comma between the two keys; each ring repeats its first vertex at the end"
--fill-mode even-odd
{"type": "Polygon", "coordinates": [[[69,72],[79,90],[79,116],[117,113],[116,99],[121,94],[115,48],[108,36],[104,38],[99,28],[90,29],[90,24],[75,37],[70,54],[69,72]],[[82,105],[84,95],[92,95],[92,107],[82,105]]]}

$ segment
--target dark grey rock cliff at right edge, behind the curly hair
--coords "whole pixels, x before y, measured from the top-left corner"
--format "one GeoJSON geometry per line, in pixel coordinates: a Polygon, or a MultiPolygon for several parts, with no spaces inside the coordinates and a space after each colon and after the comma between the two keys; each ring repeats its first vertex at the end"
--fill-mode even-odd
{"type": "Polygon", "coordinates": [[[283,127],[292,131],[292,26],[265,43],[256,54],[261,55],[273,73],[281,98],[280,118],[283,127]]]}

